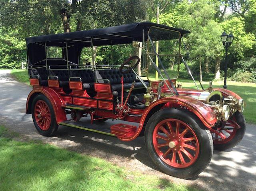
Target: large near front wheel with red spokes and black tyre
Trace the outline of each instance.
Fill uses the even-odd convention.
[[[166,108],[150,117],[145,144],[154,163],[166,174],[188,179],[210,163],[213,142],[202,122],[187,110]]]

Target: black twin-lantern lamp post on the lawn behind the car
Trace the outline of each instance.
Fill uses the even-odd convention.
[[[230,33],[229,35],[226,34],[226,32],[224,31],[222,33],[222,35],[220,35],[221,41],[223,46],[225,47],[225,51],[226,51],[226,55],[225,55],[225,69],[224,69],[224,89],[227,89],[227,69],[228,69],[228,47],[230,47],[230,45],[232,44],[233,40],[234,40],[234,36],[232,33]]]

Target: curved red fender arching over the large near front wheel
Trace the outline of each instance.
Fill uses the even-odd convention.
[[[158,110],[165,105],[166,103],[173,103],[174,105],[181,105],[182,107],[186,107],[188,110],[190,110],[192,113],[194,113],[201,121],[202,123],[208,127],[211,128],[215,125],[217,122],[217,117],[214,111],[210,107],[208,107],[206,104],[204,104],[201,101],[198,101],[197,99],[194,99],[193,97],[188,96],[173,96],[173,97],[166,97],[163,99],[159,99],[158,101],[155,101],[150,106],[148,106],[143,113],[141,119],[140,119],[140,125],[137,129],[136,133],[129,138],[120,138],[123,141],[131,141],[135,139],[141,132],[142,127],[144,125],[145,119],[154,108],[158,108]],[[158,107],[160,106],[160,107]],[[152,113],[151,113],[152,114]]]

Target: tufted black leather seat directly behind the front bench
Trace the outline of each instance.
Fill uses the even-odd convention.
[[[84,90],[94,90],[94,72],[92,70],[70,70],[70,77],[78,77],[82,79]],[[72,81],[80,81],[80,79],[71,78]]]

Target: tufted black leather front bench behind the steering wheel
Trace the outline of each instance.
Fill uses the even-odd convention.
[[[122,74],[118,69],[98,70],[98,72],[99,72],[101,78],[108,79],[110,81],[112,91],[118,91],[118,92],[121,91],[121,89],[122,89],[122,84],[121,84],[122,75],[124,76],[124,90],[129,90],[134,81],[137,81],[134,84],[134,88],[144,88],[142,83],[138,82],[138,80],[136,80],[136,75],[132,71],[128,72],[127,74]],[[99,77],[97,77],[97,78],[99,78]],[[149,85],[148,82],[145,82],[145,84],[147,86]]]

